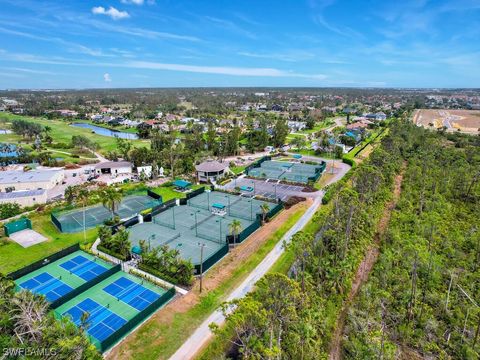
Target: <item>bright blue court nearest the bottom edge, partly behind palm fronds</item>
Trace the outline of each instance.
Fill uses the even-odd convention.
[[[105,306],[98,304],[90,298],[83,300],[77,305],[65,311],[63,315],[70,315],[73,322],[79,326],[82,322],[82,315],[88,313],[87,328],[88,334],[99,341],[108,338],[115,331],[120,329],[127,320],[114,314]]]

